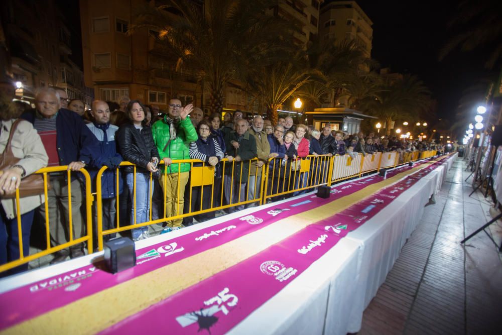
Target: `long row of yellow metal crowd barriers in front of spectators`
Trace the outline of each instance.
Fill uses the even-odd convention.
[[[425,151],[425,152],[413,152],[413,153],[404,153],[403,162],[407,163],[410,161],[415,161],[417,159],[424,159],[433,157],[436,155],[436,151]],[[133,222],[126,222],[126,225],[121,225],[120,220],[120,195],[119,195],[119,178],[121,177],[120,168],[115,169],[115,184],[116,184],[116,215],[113,229],[103,230],[103,207],[102,207],[102,184],[101,177],[103,173],[107,170],[106,166],[103,166],[97,173],[96,176],[96,192],[91,192],[91,178],[89,173],[85,169],[81,169],[80,172],[83,174],[84,181],[84,189],[85,189],[85,219],[86,219],[86,234],[80,238],[73,239],[73,224],[72,224],[72,215],[71,215],[71,185],[68,187],[68,199],[69,199],[69,211],[70,217],[68,218],[68,229],[69,229],[69,242],[51,246],[51,238],[50,238],[50,222],[49,222],[49,208],[48,208],[48,190],[47,190],[47,174],[51,172],[62,172],[66,171],[67,180],[71,180],[71,171],[67,170],[67,166],[58,166],[58,167],[50,167],[43,168],[38,170],[35,173],[43,174],[44,176],[44,184],[45,184],[45,192],[44,199],[45,203],[45,229],[46,229],[46,244],[47,248],[41,252],[38,252],[33,255],[25,256],[23,255],[23,240],[22,240],[22,232],[21,232],[21,215],[18,214],[18,229],[19,229],[19,248],[20,248],[20,259],[9,262],[7,264],[0,266],[0,272],[12,269],[16,266],[25,264],[27,262],[33,261],[40,257],[49,255],[51,253],[57,252],[59,250],[71,247],[73,245],[87,243],[88,253],[91,254],[93,252],[93,213],[92,213],[92,201],[93,195],[96,195],[96,240],[97,240],[97,249],[103,249],[103,237],[111,234],[122,233],[129,230],[137,229],[140,227],[150,226],[154,224],[160,224],[165,221],[179,219],[183,217],[194,216],[198,214],[211,213],[216,210],[221,209],[230,209],[236,206],[242,206],[245,204],[251,203],[259,203],[263,204],[267,200],[272,199],[276,200],[282,198],[284,196],[293,195],[295,192],[302,192],[306,190],[311,190],[314,187],[318,187],[320,185],[331,185],[332,183],[336,183],[341,180],[359,177],[363,173],[370,173],[373,171],[379,171],[382,168],[390,168],[396,167],[398,165],[399,153],[397,152],[384,152],[384,153],[374,153],[374,154],[366,154],[363,156],[362,154],[357,154],[355,157],[351,157],[346,154],[343,156],[335,155],[309,155],[305,158],[301,158],[298,160],[290,160],[283,161],[283,159],[279,158],[271,158],[268,163],[264,164],[262,168],[258,168],[256,163],[258,163],[258,159],[253,159],[251,161],[244,161],[238,168],[236,168],[235,160],[232,162],[228,162],[227,159],[221,160],[219,165],[221,166],[221,184],[219,182],[215,182],[219,177],[215,174],[215,168],[210,166],[209,164],[203,163],[199,160],[175,160],[171,164],[171,166],[178,165],[178,171],[181,164],[190,164],[190,177],[188,181],[187,190],[188,194],[188,203],[185,203],[185,206],[188,206],[188,210],[182,210],[180,208],[180,196],[178,196],[177,203],[177,211],[175,215],[167,216],[166,211],[166,198],[167,193],[163,192],[163,217],[158,219],[152,219],[152,187],[150,187],[150,193],[148,194],[150,199],[150,209],[148,213],[148,219],[145,222],[136,222],[136,182],[134,182],[135,186],[132,194],[132,206],[134,208],[134,220]],[[284,165],[283,165],[284,162]],[[164,164],[163,161],[160,164]],[[246,165],[248,167],[247,175],[242,175],[243,167]],[[122,162],[120,164],[123,166],[134,166],[134,172],[136,172],[136,166],[129,162]],[[161,167],[161,165],[159,165]],[[240,171],[239,171],[240,169]],[[226,173],[225,173],[226,172]],[[178,174],[178,180],[180,180],[180,173]],[[233,195],[236,194],[237,190],[235,189],[235,181],[234,175],[239,175],[239,182],[237,185],[242,185],[244,182],[246,184],[244,190],[244,197],[242,198],[240,188],[239,194],[237,196],[237,201],[233,200]],[[165,170],[163,172],[164,180],[167,178],[168,171]],[[255,175],[254,178],[253,174]],[[226,177],[225,177],[226,176]],[[261,176],[261,178],[257,178],[256,176]],[[136,173],[135,173],[136,178]],[[252,180],[254,184],[250,184],[248,181]],[[260,180],[259,180],[260,179]],[[135,179],[136,181],[136,179]],[[149,174],[149,182],[154,183],[154,176],[152,173]],[[228,187],[228,183],[230,183]],[[254,193],[252,196],[248,197],[249,187],[254,186]],[[225,186],[227,186],[227,190],[229,189],[230,195],[229,203],[225,203]],[[124,190],[126,189],[126,182],[124,181]],[[192,201],[195,201],[195,196],[193,197],[194,190],[198,188],[197,192],[200,192],[200,198],[197,197],[197,201],[200,203],[195,205],[196,210],[192,210]],[[164,185],[164,189],[166,189],[166,185]],[[180,194],[180,183],[178,182],[176,192]],[[210,201],[204,202],[203,195],[204,192],[210,192]],[[126,193],[127,194],[127,193]],[[122,195],[124,196],[124,195]],[[127,196],[127,195],[126,195]],[[83,201],[83,202],[84,202]],[[17,212],[20,212],[20,200],[19,200],[19,190],[16,191],[16,204],[17,204]],[[126,215],[129,216],[129,208],[126,210]],[[127,220],[126,220],[127,221]],[[25,241],[26,243],[26,241]],[[29,242],[28,242],[29,243]]]

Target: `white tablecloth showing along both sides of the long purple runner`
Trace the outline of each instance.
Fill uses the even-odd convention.
[[[457,154],[451,155],[442,165],[401,193],[363,226],[348,233],[306,271],[255,309],[228,333],[345,334],[357,332],[361,326],[364,309],[385,281],[402,246],[417,226],[425,204],[440,189],[456,156]],[[335,187],[340,188],[352,181],[354,180],[338,183]],[[311,195],[300,195],[296,198],[301,199]],[[291,201],[291,199],[267,204],[261,206],[260,209],[278,208],[286,201]],[[226,215],[224,219],[231,220],[256,211],[257,208],[247,208],[238,213]],[[216,218],[204,224],[139,241],[136,248],[148,250],[146,248],[152,245],[220,223],[221,218]],[[91,265],[93,260],[99,257],[102,257],[102,253],[0,281],[0,307],[7,308],[2,305],[2,294],[44,278]],[[260,287],[250,289],[260,290]],[[85,318],[85,313],[81,316]],[[141,322],[148,322],[148,320]],[[9,332],[9,328],[4,330]],[[44,331],[41,330],[41,332]],[[82,332],[85,333],[85,331]]]

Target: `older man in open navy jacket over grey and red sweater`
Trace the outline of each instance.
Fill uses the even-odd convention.
[[[38,131],[49,156],[49,167],[68,165],[68,170],[79,171],[90,163],[93,153],[98,152],[98,143],[78,114],[60,108],[59,98],[59,93],[53,88],[44,87],[37,90],[36,108],[26,111],[21,118],[31,122]],[[50,178],[52,189],[48,191],[47,199],[49,230],[51,244],[58,246],[70,241],[68,220],[70,199],[72,238],[76,240],[85,235],[85,225],[80,213],[82,190],[78,178],[81,178],[81,174],[72,173],[71,197],[68,197],[69,182],[66,171],[51,173]],[[61,208],[60,214],[58,208]],[[45,206],[39,207],[39,213],[45,218]],[[83,247],[80,243],[58,251],[51,264],[62,262],[68,256],[71,258],[83,256]]]

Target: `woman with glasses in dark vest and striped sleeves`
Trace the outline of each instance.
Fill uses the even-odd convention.
[[[191,180],[195,180],[194,177],[198,173],[207,173],[205,168],[200,167],[209,167],[210,171],[214,174],[214,179],[212,185],[192,187],[190,212],[211,208],[211,198],[213,199],[214,206],[215,198],[219,198],[221,195],[221,167],[219,161],[223,159],[223,151],[218,141],[211,136],[211,125],[207,121],[202,120],[199,122],[197,133],[199,134],[197,141],[190,143],[190,158],[201,160],[204,163],[193,164]],[[201,179],[203,180],[204,178]],[[193,217],[199,222],[206,221],[214,217],[214,211],[197,214]],[[191,225],[192,218],[188,217],[184,222]]]

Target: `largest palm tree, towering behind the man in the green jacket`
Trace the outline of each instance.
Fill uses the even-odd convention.
[[[203,9],[185,0],[167,3],[138,8],[131,33],[158,31],[159,42],[177,57],[178,69],[198,70],[209,86],[211,111],[221,111],[226,83],[292,47],[291,26],[267,13],[276,0],[206,0]],[[174,19],[167,11],[173,9],[180,14]]]

